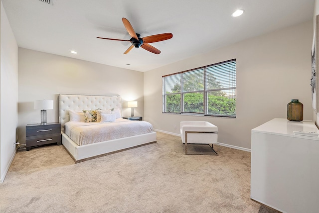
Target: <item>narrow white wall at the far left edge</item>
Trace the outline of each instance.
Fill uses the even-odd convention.
[[[18,47],[0,2],[0,183],[15,155]]]

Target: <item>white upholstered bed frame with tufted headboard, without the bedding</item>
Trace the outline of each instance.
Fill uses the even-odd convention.
[[[70,120],[69,109],[120,108],[122,114],[121,102],[120,96],[59,94],[59,120],[61,123],[62,144],[75,163],[157,142],[156,132],[152,132],[79,146],[64,133],[64,124]]]

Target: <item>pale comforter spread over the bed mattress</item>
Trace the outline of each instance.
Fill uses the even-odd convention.
[[[69,121],[65,134],[79,146],[153,132],[147,121],[116,119],[115,122]]]

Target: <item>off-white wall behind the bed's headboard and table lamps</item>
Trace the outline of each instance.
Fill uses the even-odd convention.
[[[35,100],[53,100],[47,122],[58,121],[58,94],[120,95],[123,116],[131,115],[127,101],[137,100],[135,115],[143,116],[143,73],[58,56],[29,49],[18,49],[18,141],[25,143],[25,125],[40,123]]]

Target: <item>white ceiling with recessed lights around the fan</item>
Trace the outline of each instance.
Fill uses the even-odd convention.
[[[315,6],[315,0],[1,1],[19,47],[141,72],[311,20]],[[232,17],[239,8],[244,14]],[[122,17],[141,37],[173,38],[152,43],[159,55],[142,48],[124,55],[130,42],[96,38],[130,39]]]

